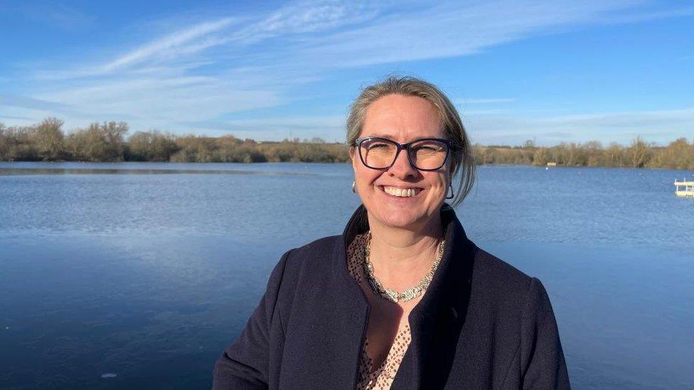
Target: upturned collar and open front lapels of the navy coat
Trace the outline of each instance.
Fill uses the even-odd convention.
[[[445,374],[449,372],[454,357],[457,336],[464,323],[476,246],[467,238],[454,210],[446,203],[441,209],[441,220],[446,232],[444,253],[427,292],[408,317],[412,342],[393,380],[392,389],[442,386],[438,381],[446,379]],[[360,205],[344,229],[339,253],[335,256],[341,264],[334,268],[340,270],[341,282],[349,286],[349,295],[353,296],[351,308],[356,320],[354,326],[362,327],[361,340],[354,340],[358,342],[360,351],[356,364],[361,357],[361,345],[368,323],[368,303],[361,288],[349,275],[346,256],[352,239],[367,230],[366,209],[364,205]],[[358,323],[359,320],[363,322]],[[435,356],[436,359],[427,359],[430,356]]]

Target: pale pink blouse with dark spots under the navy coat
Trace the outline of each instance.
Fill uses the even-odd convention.
[[[357,281],[362,283],[362,273],[364,264],[364,247],[366,244],[366,234],[357,235],[347,249],[347,269],[349,274]],[[373,360],[366,353],[368,337],[364,340],[361,349],[361,359],[359,362],[359,377],[357,380],[357,390],[363,389],[390,389],[393,379],[400,367],[402,357],[410,347],[412,337],[410,335],[410,325],[406,324],[397,330],[393,345],[390,347],[388,357],[378,367],[373,367]]]

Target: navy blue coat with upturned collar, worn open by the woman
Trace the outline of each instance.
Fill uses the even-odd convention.
[[[409,316],[412,342],[391,389],[568,389],[550,299],[479,249],[455,212],[442,261]],[[341,236],[288,251],[237,340],[215,364],[215,389],[354,389],[369,305],[346,248],[368,229],[360,206]]]

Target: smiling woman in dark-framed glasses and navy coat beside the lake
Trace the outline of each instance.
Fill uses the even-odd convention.
[[[444,203],[474,183],[449,99],[388,77],[363,90],[347,128],[363,205],[341,236],[282,256],[214,387],[568,388],[543,285],[476,247]]]

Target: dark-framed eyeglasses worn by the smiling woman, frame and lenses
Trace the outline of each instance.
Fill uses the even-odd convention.
[[[408,143],[397,143],[381,137],[363,137],[354,141],[361,162],[371,169],[386,169],[393,166],[397,155],[407,151],[410,166],[419,170],[437,170],[446,163],[451,141],[440,138],[415,139]]]

